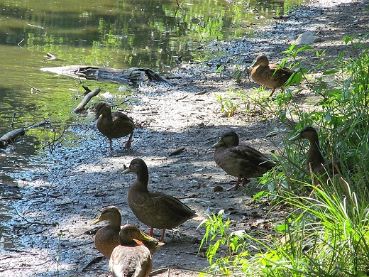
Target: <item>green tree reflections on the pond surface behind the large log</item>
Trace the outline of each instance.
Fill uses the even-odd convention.
[[[178,56],[183,56],[185,62],[191,60],[196,55],[191,51],[206,41],[245,36],[250,31],[246,26],[258,28],[262,21],[259,15],[270,18],[284,13],[285,7],[293,4],[284,1],[260,4],[255,0],[241,4],[226,0],[63,2],[40,6],[31,0],[25,6],[5,9],[5,16],[15,21],[27,18],[29,23],[26,28],[21,25],[11,28],[6,41],[18,43],[26,38],[26,44],[34,47],[92,48],[91,53],[84,54],[90,55],[84,60],[109,61],[121,68],[163,70],[174,65]]]

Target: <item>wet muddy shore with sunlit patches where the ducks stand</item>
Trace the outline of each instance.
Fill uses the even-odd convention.
[[[106,259],[92,262],[101,256],[94,248],[93,233],[104,224],[95,227],[90,223],[103,207],[116,205],[123,223],[137,224],[148,232],[126,200],[136,175],[121,174],[123,166],[137,157],[148,165],[149,190],[173,195],[199,215],[172,232],[167,231],[165,245],[153,255],[153,269],[167,269],[156,276],[197,276],[197,271],[209,266],[205,249],[199,251],[204,228],[197,229],[206,212],[224,209],[232,229],[268,232],[265,222],[276,224],[285,212],[270,212],[268,203],[255,204],[251,200],[259,189],[256,180],[247,188],[214,192],[216,185],[226,189],[234,185],[236,178],[226,175],[214,163],[211,145],[232,129],[241,143],[263,153],[278,153],[280,140],[290,130],[268,114],[260,116],[252,103],[251,112],[246,113],[240,106],[234,116],[226,117],[216,94],[226,97],[230,88],[247,94],[257,88],[247,77],[241,83],[231,77],[236,65],[250,65],[260,53],[278,62],[283,58],[280,53],[304,31],[321,38],[312,45],[314,48],[326,49],[327,58],[336,57],[347,49],[343,36],[368,32],[365,9],[368,0],[316,1],[275,20],[257,32],[258,38],[209,43],[206,51],[224,56],[178,67],[172,75],[180,79],[173,79],[172,86],[148,82],[137,89],[128,115],[141,128],[136,129],[130,150],[124,148],[123,138],[114,140],[114,151],[109,152],[109,143],[95,124],[71,127],[69,131],[76,137],[73,146],[56,148],[44,158],[42,167],[23,173],[18,181],[24,196],[14,202],[18,215],[8,224],[14,226],[23,246],[1,253],[0,276],[107,276]],[[302,62],[308,66],[310,60]],[[220,64],[224,70],[214,73]],[[306,105],[312,96],[308,91],[300,93]],[[275,136],[267,136],[272,131]],[[184,151],[170,156],[181,147]],[[155,236],[160,236],[160,230],[155,230]]]

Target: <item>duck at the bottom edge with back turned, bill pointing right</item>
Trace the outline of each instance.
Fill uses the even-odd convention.
[[[109,271],[114,277],[145,277],[153,267],[150,251],[137,241],[150,240],[138,227],[126,224],[119,232],[120,245],[111,253]]]

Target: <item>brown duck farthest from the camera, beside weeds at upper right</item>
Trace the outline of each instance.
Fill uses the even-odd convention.
[[[283,85],[290,79],[294,73],[288,67],[279,67],[279,65],[270,64],[266,55],[258,55],[255,62],[250,65],[251,78],[259,85],[272,89],[270,96],[274,93],[277,87],[281,87],[283,91]]]

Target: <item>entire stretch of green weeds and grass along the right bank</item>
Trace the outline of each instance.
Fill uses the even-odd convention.
[[[316,126],[324,157],[339,167],[328,183],[312,185],[304,172],[307,141],[299,145],[282,141],[275,157],[280,165],[260,178],[268,190],[255,198],[272,197],[275,208],[285,205],[292,212],[274,227],[275,234],[268,241],[255,233],[238,232],[242,239],[236,241],[236,248],[231,244],[229,219],[222,219],[224,214],[204,220],[201,226],[206,226],[206,232],[201,246],[210,244],[206,256],[211,258],[211,273],[369,276],[369,56],[363,43],[367,37],[344,38],[356,58],[346,58],[342,53],[326,60],[324,51],[316,52],[315,67],[299,70],[297,78],[305,80],[309,92],[318,97],[314,109],[304,110],[294,97],[300,90],[294,87],[287,87],[275,99],[248,98],[286,126],[296,130]],[[298,60],[305,51],[312,53],[312,48],[295,49],[293,45],[285,53],[302,68]],[[312,78],[312,72],[317,77]],[[250,247],[257,253],[250,254]]]

